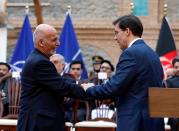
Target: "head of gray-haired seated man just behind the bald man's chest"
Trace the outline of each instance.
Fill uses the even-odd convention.
[[[50,61],[55,65],[57,72],[60,75],[63,75],[63,71],[65,68],[65,59],[61,54],[54,54],[50,56]]]

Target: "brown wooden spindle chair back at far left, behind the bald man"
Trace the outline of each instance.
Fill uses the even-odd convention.
[[[3,119],[17,119],[19,114],[21,84],[19,79],[8,78],[9,114]]]

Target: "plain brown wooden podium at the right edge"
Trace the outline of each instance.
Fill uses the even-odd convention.
[[[179,118],[179,88],[149,88],[149,113],[151,117]]]

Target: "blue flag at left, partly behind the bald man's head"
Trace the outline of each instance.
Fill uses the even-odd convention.
[[[34,49],[33,34],[28,15],[25,16],[24,23],[12,54],[10,64],[13,71],[20,72],[25,60]]]

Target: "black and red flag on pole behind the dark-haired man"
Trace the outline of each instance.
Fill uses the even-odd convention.
[[[162,20],[156,52],[160,57],[165,74],[164,79],[166,79],[166,70],[173,67],[172,60],[177,55],[177,51],[170,26],[165,16]]]

